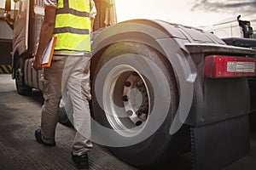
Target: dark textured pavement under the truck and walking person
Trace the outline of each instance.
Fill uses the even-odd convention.
[[[44,147],[34,139],[34,131],[40,124],[43,99],[38,91],[29,97],[20,96],[15,91],[15,81],[9,75],[0,75],[0,169],[76,169],[71,161],[73,128],[57,125],[56,147]],[[256,135],[252,133],[250,153],[224,170],[256,169]],[[168,168],[155,169],[189,170],[189,154],[170,161]],[[91,170],[136,170],[119,161],[106,148],[95,144],[90,152]]]

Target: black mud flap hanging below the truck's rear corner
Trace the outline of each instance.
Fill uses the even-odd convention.
[[[196,170],[221,169],[246,156],[250,150],[248,115],[191,127],[190,135]]]

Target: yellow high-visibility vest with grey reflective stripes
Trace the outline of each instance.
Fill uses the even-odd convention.
[[[90,52],[90,0],[58,0],[55,51]]]

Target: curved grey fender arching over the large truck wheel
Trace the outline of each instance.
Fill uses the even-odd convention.
[[[176,133],[189,115],[196,78],[195,67],[189,64],[192,59],[179,38],[187,39],[174,25],[165,21],[127,20],[104,29],[92,42],[92,74],[104,49],[115,42],[141,42],[166,56],[176,74],[179,89],[179,105],[170,134]]]

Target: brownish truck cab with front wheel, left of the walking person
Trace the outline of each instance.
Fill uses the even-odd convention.
[[[36,52],[41,25],[44,20],[44,1],[15,0],[6,1],[15,4],[15,21],[13,23],[12,78],[15,79],[17,92],[29,95],[32,88],[42,89],[38,81],[42,71],[34,71],[28,61]],[[7,10],[8,14],[8,10]],[[26,71],[25,71],[26,70]],[[27,74],[31,74],[29,78]]]

